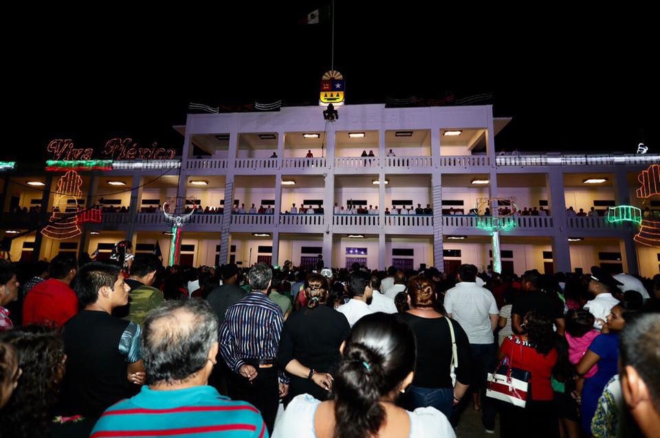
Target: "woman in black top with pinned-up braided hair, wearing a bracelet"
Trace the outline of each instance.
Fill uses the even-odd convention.
[[[301,292],[302,293],[302,292]],[[351,327],[344,314],[326,306],[328,282],[319,274],[307,278],[307,306],[293,312],[284,324],[278,363],[291,375],[289,398],[309,393],[327,400],[331,371],[341,359],[339,347]]]

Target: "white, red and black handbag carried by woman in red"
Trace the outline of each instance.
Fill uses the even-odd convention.
[[[522,353],[522,340],[520,340],[520,351]],[[486,396],[524,408],[530,379],[529,371],[515,368],[511,359],[505,357],[495,371],[488,373]]]

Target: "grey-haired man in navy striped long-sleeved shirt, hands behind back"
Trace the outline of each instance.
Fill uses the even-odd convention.
[[[279,397],[289,391],[289,379],[284,372],[278,373],[275,360],[284,319],[280,307],[266,296],[272,277],[267,264],[250,269],[252,292],[227,310],[220,327],[220,352],[234,371],[230,396],[259,408],[270,433]]]

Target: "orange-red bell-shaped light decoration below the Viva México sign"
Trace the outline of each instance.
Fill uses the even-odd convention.
[[[76,213],[78,213],[78,198],[83,196],[83,191],[80,189],[82,185],[83,178],[80,178],[75,170],[69,170],[57,181],[53,214],[48,220],[49,224],[41,230],[41,234],[54,240],[71,239],[80,235]],[[69,204],[72,207],[69,207]]]

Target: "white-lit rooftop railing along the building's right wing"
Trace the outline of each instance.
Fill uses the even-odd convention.
[[[654,164],[660,163],[660,154],[624,155],[499,155],[496,165],[603,165],[603,164]]]

